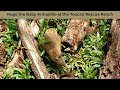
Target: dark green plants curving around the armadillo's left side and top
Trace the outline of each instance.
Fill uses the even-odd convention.
[[[49,73],[57,73],[60,74],[64,72],[64,70],[60,67],[57,67],[56,64],[54,64],[48,57],[45,49],[43,48],[43,44],[47,41],[44,40],[44,34],[48,28],[56,28],[58,30],[59,35],[63,35],[64,31],[67,27],[68,20],[63,19],[40,19],[39,20],[39,27],[40,27],[40,34],[36,36],[35,38],[38,40],[39,43],[39,50],[40,55],[42,56],[45,65],[47,67],[47,70]]]

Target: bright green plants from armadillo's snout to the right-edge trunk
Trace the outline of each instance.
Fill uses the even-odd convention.
[[[91,20],[96,24],[96,20]],[[83,45],[78,49],[78,56],[75,57],[69,52],[64,52],[64,57],[71,70],[75,71],[77,79],[97,79],[98,71],[104,58],[104,48],[108,42],[110,24],[108,20],[100,20],[98,32],[89,34],[83,40]],[[65,46],[64,46],[65,48]]]

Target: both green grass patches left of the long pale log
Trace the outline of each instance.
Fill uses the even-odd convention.
[[[16,19],[4,19],[3,22],[7,25],[6,32],[0,32],[2,34],[1,40],[4,43],[6,51],[6,60],[11,61],[14,50],[21,47],[21,40],[17,31]],[[13,74],[10,76],[8,73],[4,73],[4,79],[33,79],[34,75],[31,75],[31,67],[28,59],[23,61],[23,68],[13,68]]]

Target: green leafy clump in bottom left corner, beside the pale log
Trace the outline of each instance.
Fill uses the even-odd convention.
[[[29,59],[25,59],[22,64],[23,68],[13,67],[13,73],[10,75],[5,72],[3,75],[4,79],[35,79],[33,75],[31,75],[31,67]]]

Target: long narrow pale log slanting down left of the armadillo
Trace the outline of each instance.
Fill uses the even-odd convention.
[[[40,57],[38,46],[35,44],[34,36],[31,28],[28,26],[26,19],[18,19],[18,32],[22,41],[22,45],[26,48],[25,52],[30,59],[31,68],[37,79],[50,79],[43,59]]]

